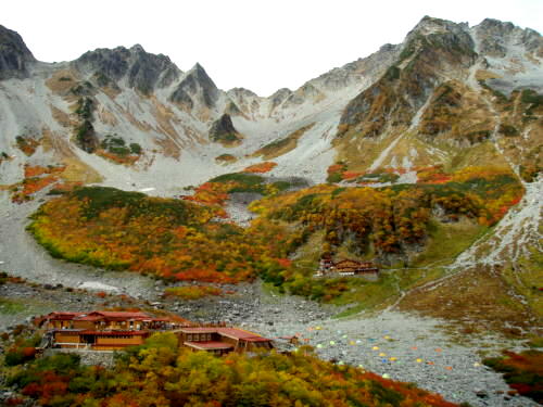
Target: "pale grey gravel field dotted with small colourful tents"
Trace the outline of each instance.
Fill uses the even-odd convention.
[[[278,303],[280,304],[280,302]],[[298,336],[298,346],[311,345],[317,355],[337,364],[349,364],[393,380],[414,382],[437,392],[454,403],[471,406],[536,406],[525,397],[512,398],[501,374],[481,364],[481,353],[498,354],[515,347],[498,338],[463,338],[462,343],[443,329],[443,321],[409,314],[383,311],[343,319],[325,318],[295,322],[289,314],[303,320],[304,309],[276,306],[268,321],[252,321],[251,328],[265,336]],[[274,323],[269,323],[274,322]]]

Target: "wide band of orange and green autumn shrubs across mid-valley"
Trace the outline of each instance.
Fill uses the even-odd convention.
[[[111,188],[75,188],[43,204],[29,226],[51,255],[169,280],[235,283],[257,276],[281,290],[329,301],[349,291],[342,280],[316,282],[291,255],[315,233],[334,254],[345,241],[378,262],[402,258],[427,244],[432,221],[471,219],[494,225],[522,195],[521,185],[497,168],[468,167],[435,182],[381,188],[320,185],[293,192],[288,182],[255,174],[227,174],[185,200],[150,198]],[[377,173],[379,179],[388,173]],[[374,175],[365,175],[374,179]],[[250,208],[248,228],[226,222],[229,194],[265,198]],[[193,202],[191,202],[193,201]]]

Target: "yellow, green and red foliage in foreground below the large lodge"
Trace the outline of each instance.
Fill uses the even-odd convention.
[[[111,369],[58,354],[33,363],[10,382],[46,407],[456,406],[413,384],[323,361],[310,347],[217,357],[179,347],[173,333],[128,348]]]

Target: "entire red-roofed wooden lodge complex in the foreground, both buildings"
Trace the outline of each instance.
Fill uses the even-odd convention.
[[[186,320],[155,318],[141,311],[51,313],[36,322],[47,329],[46,339],[51,347],[117,351],[141,345],[148,336],[161,331],[174,332],[180,346],[217,355],[274,347],[269,339],[224,323],[193,326]]]

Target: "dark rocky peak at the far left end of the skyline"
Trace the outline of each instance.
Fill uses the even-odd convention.
[[[27,77],[28,65],[33,62],[36,59],[23,38],[0,25],[0,80]]]

